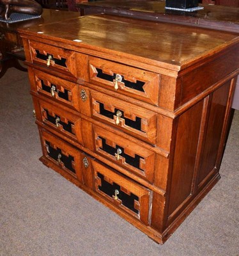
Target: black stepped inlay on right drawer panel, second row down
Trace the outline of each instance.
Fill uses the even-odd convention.
[[[140,117],[136,116],[135,121],[131,120],[129,118],[125,118],[124,117],[124,111],[121,111],[120,109],[115,108],[114,112],[111,112],[111,111],[104,108],[103,103],[98,102],[98,101],[96,101],[96,102],[98,104],[100,104],[100,115],[103,115],[103,116],[106,116],[108,118],[114,119],[114,116],[116,116],[116,113],[119,110],[122,113],[121,118],[125,119],[125,125],[127,125],[129,127],[132,127],[132,128],[134,128],[138,131],[144,132],[144,131],[141,130],[141,118]]]

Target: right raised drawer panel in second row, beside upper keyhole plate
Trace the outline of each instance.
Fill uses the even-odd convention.
[[[80,86],[80,94],[82,95],[84,90],[85,95],[89,96],[80,100],[82,114],[111,124],[148,143],[156,144],[157,113],[109,95],[82,88],[83,86]]]

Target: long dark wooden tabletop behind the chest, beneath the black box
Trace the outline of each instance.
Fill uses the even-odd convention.
[[[106,0],[76,4],[81,15],[107,13],[136,19],[164,21],[204,28],[239,31],[239,8],[199,4],[203,10],[178,12],[165,9],[165,1]]]

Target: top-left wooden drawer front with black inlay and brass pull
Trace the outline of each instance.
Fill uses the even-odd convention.
[[[29,46],[33,63],[88,81],[87,55],[35,41],[30,41]]]

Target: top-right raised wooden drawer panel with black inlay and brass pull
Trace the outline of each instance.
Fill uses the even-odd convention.
[[[159,74],[90,56],[89,81],[158,106]]]

